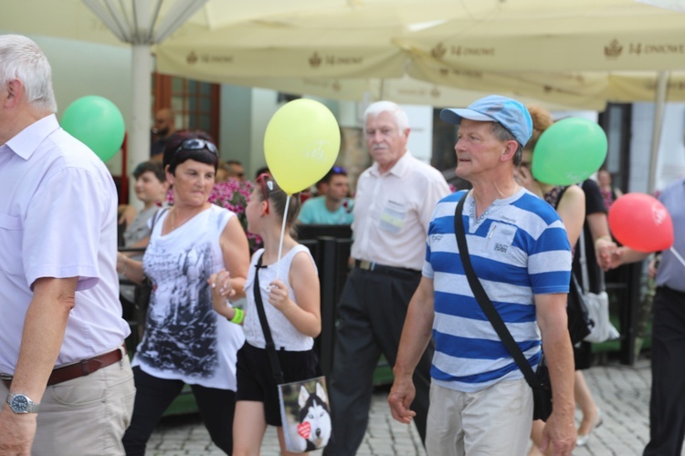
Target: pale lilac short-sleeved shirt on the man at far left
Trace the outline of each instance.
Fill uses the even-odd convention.
[[[117,192],[100,158],[47,116],[0,146],[0,195],[0,372],[15,371],[41,277],[79,277],[58,366],[121,346]]]

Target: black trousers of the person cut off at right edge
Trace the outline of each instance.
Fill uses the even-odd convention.
[[[685,436],[685,293],[654,296],[649,443],[645,455],[680,456]]]

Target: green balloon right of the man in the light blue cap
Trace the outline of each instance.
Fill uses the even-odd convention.
[[[553,185],[585,181],[606,159],[606,133],[595,122],[568,118],[544,130],[532,153],[532,176]]]

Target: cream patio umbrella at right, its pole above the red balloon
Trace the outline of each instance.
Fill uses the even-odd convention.
[[[683,2],[505,1],[481,15],[446,20],[395,43],[414,56],[410,72],[538,72],[541,77],[581,72],[584,77],[606,78],[606,99],[621,101],[643,98],[645,86],[654,87],[657,115],[648,182],[652,191],[669,72],[685,69],[685,14],[659,6],[682,10]],[[671,92],[682,96],[681,88]]]

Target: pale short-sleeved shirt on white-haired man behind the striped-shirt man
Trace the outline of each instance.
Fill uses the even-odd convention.
[[[374,162],[357,181],[353,258],[420,271],[430,216],[448,194],[440,171],[408,151],[384,174]]]

